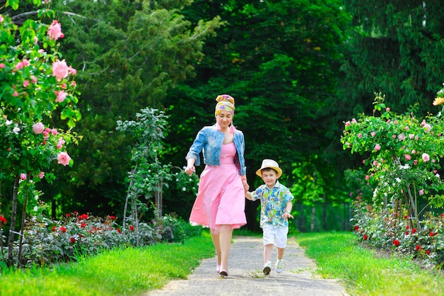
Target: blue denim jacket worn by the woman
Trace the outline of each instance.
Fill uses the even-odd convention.
[[[207,126],[199,130],[196,139],[194,140],[192,147],[189,148],[189,152],[185,159],[190,157],[196,159],[195,166],[200,166],[199,153],[202,151],[204,154],[204,164],[210,166],[221,165],[221,149],[223,144],[223,138],[225,135],[220,130],[216,129],[216,125]],[[234,130],[233,142],[235,144],[238,159],[235,159],[235,164],[238,166],[239,175],[243,176],[246,173],[245,159],[243,157],[245,151],[245,140],[243,138],[243,132],[240,130]]]

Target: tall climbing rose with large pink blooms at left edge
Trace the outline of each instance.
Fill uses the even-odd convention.
[[[42,1],[26,2],[43,5]],[[16,10],[18,1],[6,1],[3,8],[9,6]],[[35,14],[40,20],[55,16],[46,8]],[[35,190],[35,183],[42,178],[49,183],[55,179],[48,171],[54,162],[73,164],[67,147],[77,143],[78,137],[71,129],[81,114],[76,108],[77,71],[57,51],[57,40],[63,37],[56,20],[48,25],[26,19],[18,26],[0,11],[0,182],[15,180],[18,186],[13,209],[17,197],[28,211],[38,211],[42,193]],[[55,114],[70,130],[51,125]],[[11,210],[10,254],[15,215]]]

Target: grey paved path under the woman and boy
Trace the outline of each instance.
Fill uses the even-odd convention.
[[[216,257],[201,261],[187,280],[172,280],[162,288],[142,296],[161,295],[348,295],[337,280],[321,279],[314,273],[316,264],[304,254],[294,238],[289,239],[284,255],[284,271],[262,273],[262,238],[233,237],[228,278],[216,273]],[[276,258],[276,249],[272,258]],[[274,261],[272,262],[274,264]]]

